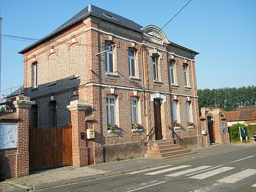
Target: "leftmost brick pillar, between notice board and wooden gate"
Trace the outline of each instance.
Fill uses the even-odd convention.
[[[25,96],[18,96],[13,101],[12,108],[16,109],[19,118],[15,177],[29,175],[29,109],[32,104],[30,98]]]

